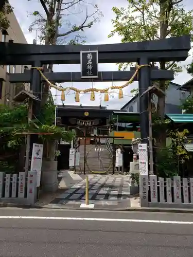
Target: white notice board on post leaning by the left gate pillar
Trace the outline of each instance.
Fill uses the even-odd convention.
[[[42,157],[43,157],[43,144],[33,143],[30,170],[37,171],[37,187],[40,187]]]

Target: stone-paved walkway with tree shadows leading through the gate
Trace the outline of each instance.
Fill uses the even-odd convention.
[[[85,201],[85,175],[63,171],[59,187],[61,194],[51,204],[80,205]],[[89,174],[89,200],[94,205],[130,207],[129,176]],[[123,207],[124,207],[123,206]]]

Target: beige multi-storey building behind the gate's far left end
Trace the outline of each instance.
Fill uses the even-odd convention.
[[[0,32],[0,41],[1,42],[10,42],[10,43],[23,43],[27,44],[23,31],[17,22],[17,19],[14,13],[8,15],[8,20],[10,21],[10,27],[7,30]],[[9,83],[9,74],[10,73],[20,73],[24,72],[24,69],[28,68],[24,65],[17,66],[2,66],[0,65],[0,104],[6,104],[11,106],[13,97],[18,94],[21,90],[29,89],[28,84],[12,84]]]

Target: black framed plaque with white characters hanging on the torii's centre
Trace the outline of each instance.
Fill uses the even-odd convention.
[[[98,78],[98,50],[80,52],[81,78]]]

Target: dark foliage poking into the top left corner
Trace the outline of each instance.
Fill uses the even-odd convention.
[[[9,20],[7,19],[7,15],[13,11],[13,7],[9,5],[8,0],[0,1],[0,30],[9,28]]]

